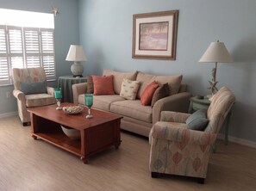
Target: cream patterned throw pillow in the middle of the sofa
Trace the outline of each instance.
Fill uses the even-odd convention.
[[[124,78],[122,80],[122,87],[120,96],[128,100],[134,100],[136,98],[140,83],[138,81],[132,81]]]

